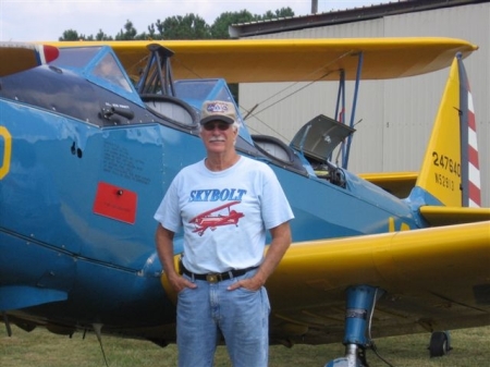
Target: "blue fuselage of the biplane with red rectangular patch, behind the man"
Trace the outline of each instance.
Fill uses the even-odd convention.
[[[151,327],[171,323],[174,306],[160,284],[152,216],[179,170],[205,156],[197,125],[62,61],[0,81],[0,310],[161,338]],[[228,90],[201,83],[215,86],[205,98]],[[204,97],[186,100],[198,108]],[[338,185],[306,160],[290,167],[261,154],[246,127],[237,149],[275,171],[294,242],[420,227],[404,200],[347,171]],[[181,252],[180,235],[175,244]]]

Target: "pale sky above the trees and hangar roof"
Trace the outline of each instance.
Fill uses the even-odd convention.
[[[318,0],[318,13],[384,2],[389,1]],[[311,0],[0,0],[0,41],[56,41],[68,29],[85,36],[95,36],[101,29],[114,37],[127,21],[140,34],[169,16],[194,13],[211,25],[224,12],[246,9],[262,15],[287,7],[296,16],[307,15]]]

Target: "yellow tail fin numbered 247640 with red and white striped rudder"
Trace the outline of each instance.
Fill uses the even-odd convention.
[[[428,205],[481,205],[475,112],[461,56],[451,65],[417,179],[415,193],[420,192]]]

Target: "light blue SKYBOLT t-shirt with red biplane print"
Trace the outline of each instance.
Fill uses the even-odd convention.
[[[183,261],[195,273],[260,265],[266,231],[293,218],[274,172],[247,157],[220,172],[204,160],[182,169],[155,213],[172,232],[184,228]]]

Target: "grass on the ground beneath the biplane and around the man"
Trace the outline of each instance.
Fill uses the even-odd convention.
[[[3,330],[5,330],[3,328]],[[2,327],[0,327],[2,331]],[[57,335],[44,329],[25,332],[12,328],[0,337],[0,366],[15,367],[105,367],[100,345],[94,333],[75,333],[73,338]],[[454,330],[451,332],[453,351],[440,358],[429,358],[427,350],[430,335],[415,334],[376,340],[380,355],[396,367],[467,367],[488,365],[488,340],[490,327]],[[175,345],[161,348],[150,342],[102,337],[103,350],[110,367],[174,367]],[[324,366],[327,362],[341,357],[344,347],[332,345],[295,345],[293,348],[271,346],[270,367]],[[370,367],[387,366],[372,351],[367,358]],[[230,367],[226,351],[219,346],[216,367]],[[250,366],[253,367],[253,366]]]

